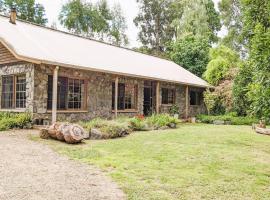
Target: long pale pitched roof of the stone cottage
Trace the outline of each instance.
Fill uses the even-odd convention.
[[[0,16],[0,41],[21,60],[199,87],[209,84],[172,61]]]

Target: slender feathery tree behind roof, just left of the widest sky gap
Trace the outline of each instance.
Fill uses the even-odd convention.
[[[112,8],[112,21],[110,28],[110,42],[117,46],[128,45],[128,37],[126,35],[127,23],[123,16],[120,4],[115,4]]]

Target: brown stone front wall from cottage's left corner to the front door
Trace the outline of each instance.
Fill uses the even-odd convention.
[[[48,75],[53,74],[51,66],[35,66],[35,118],[51,119],[47,110]],[[87,84],[87,108],[81,112],[58,111],[60,121],[90,120],[96,117],[110,119],[114,116],[112,111],[112,82],[115,76],[106,73],[89,72],[60,67],[59,76],[84,79]],[[119,113],[120,116],[134,116],[143,114],[143,81],[119,77],[119,83],[133,83],[138,85],[138,109],[135,112]]]

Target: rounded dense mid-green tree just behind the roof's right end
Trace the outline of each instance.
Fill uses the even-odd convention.
[[[207,39],[187,35],[172,43],[169,55],[175,63],[201,77],[209,62],[209,50]]]

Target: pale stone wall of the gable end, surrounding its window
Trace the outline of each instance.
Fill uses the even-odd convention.
[[[31,63],[14,63],[0,65],[0,95],[2,94],[2,76],[5,75],[26,75],[26,109],[25,111],[33,112],[34,98],[34,64]],[[0,98],[1,106],[1,98]],[[16,109],[14,110],[16,111]],[[20,111],[22,111],[20,109]]]

